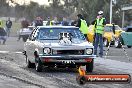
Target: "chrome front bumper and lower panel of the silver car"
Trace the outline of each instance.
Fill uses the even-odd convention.
[[[42,63],[47,64],[86,64],[96,55],[39,55]]]

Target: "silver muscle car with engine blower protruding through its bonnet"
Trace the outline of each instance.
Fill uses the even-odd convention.
[[[43,66],[79,67],[86,65],[92,72],[93,45],[86,41],[78,27],[38,26],[24,44],[28,68],[41,72]]]

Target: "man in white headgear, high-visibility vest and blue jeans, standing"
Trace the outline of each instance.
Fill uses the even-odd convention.
[[[95,25],[94,54],[97,55],[97,48],[99,45],[100,46],[99,56],[103,57],[103,34],[104,25],[106,24],[106,19],[103,17],[103,11],[98,12],[98,17],[92,24]]]

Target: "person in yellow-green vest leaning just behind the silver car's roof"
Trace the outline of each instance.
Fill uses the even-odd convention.
[[[77,17],[78,17],[78,20],[77,20],[76,27],[80,28],[80,31],[84,34],[85,38],[88,40],[88,38],[87,38],[87,34],[88,34],[87,22],[84,20],[84,18],[81,14],[78,14]]]

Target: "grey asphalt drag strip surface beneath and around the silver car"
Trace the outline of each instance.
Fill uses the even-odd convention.
[[[114,65],[113,65],[114,64]],[[132,74],[131,63],[116,60],[97,58],[95,68],[90,74]],[[43,72],[36,72],[35,69],[25,67],[25,59],[22,53],[1,53],[0,54],[1,74],[7,75],[25,84],[40,88],[131,88],[132,84],[86,84],[78,85],[75,69],[54,69],[44,68]],[[89,74],[89,73],[88,73]],[[13,87],[12,87],[13,88]],[[22,87],[24,88],[24,87]]]

